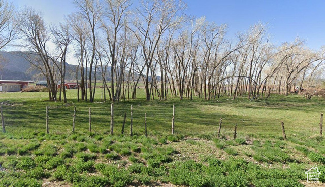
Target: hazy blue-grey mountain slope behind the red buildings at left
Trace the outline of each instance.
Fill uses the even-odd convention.
[[[0,76],[3,80],[45,80],[40,70],[36,70],[24,57],[23,51],[0,51]],[[66,63],[66,80],[75,80],[76,65]]]

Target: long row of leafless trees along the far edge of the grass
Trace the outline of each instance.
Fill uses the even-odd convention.
[[[9,36],[0,42],[0,49],[19,36],[20,46],[32,51],[30,57],[38,56],[28,61],[46,77],[50,100],[61,100],[63,93],[67,102],[64,86],[57,90],[57,83],[65,82],[68,55],[78,60],[78,100],[90,102],[98,82],[108,92],[104,99],[111,101],[135,99],[140,82],[147,100],[168,95],[209,100],[221,94],[233,99],[244,95],[262,99],[271,92],[287,95],[297,86],[299,91],[303,86],[314,88],[321,78],[324,49],[313,51],[300,39],[276,46],[262,23],[228,39],[226,25],[186,15],[182,1],[74,0],[74,4],[77,11],[64,22],[48,25],[41,12],[24,7],[16,14],[12,5],[0,0],[0,10],[10,15],[8,19],[0,15],[8,28],[0,26],[0,35]]]

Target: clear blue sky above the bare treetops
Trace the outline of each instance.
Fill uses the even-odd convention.
[[[10,0],[8,0],[10,1]],[[297,36],[307,46],[318,50],[325,45],[325,1],[316,0],[188,0],[186,13],[217,24],[228,24],[228,38],[238,31],[245,32],[250,25],[268,23],[273,43],[293,41]],[[13,0],[16,6],[31,6],[44,12],[47,22],[62,21],[74,11],[70,0]]]

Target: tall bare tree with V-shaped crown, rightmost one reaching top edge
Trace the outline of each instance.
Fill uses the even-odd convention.
[[[150,100],[152,84],[149,84],[149,76],[153,74],[155,67],[154,58],[161,36],[171,26],[183,21],[177,18],[177,14],[184,8],[182,2],[175,0],[152,0],[141,1],[140,7],[136,9],[137,16],[132,20],[134,33],[142,48],[143,61],[146,68],[145,89],[146,100]],[[152,81],[151,81],[152,82]]]

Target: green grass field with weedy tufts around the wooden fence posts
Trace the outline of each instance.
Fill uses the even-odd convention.
[[[7,131],[0,134],[0,186],[321,186],[325,182],[325,140],[319,136],[322,98],[145,101],[144,90],[138,93],[137,100],[114,103],[113,136],[109,135],[110,102],[77,102],[76,90],[67,92],[68,104],[47,101],[44,92],[0,93]],[[100,91],[95,100],[100,102]],[[173,103],[175,135],[171,135]],[[132,137],[128,135],[131,105]],[[312,167],[322,173],[319,184],[306,182],[304,173]]]

